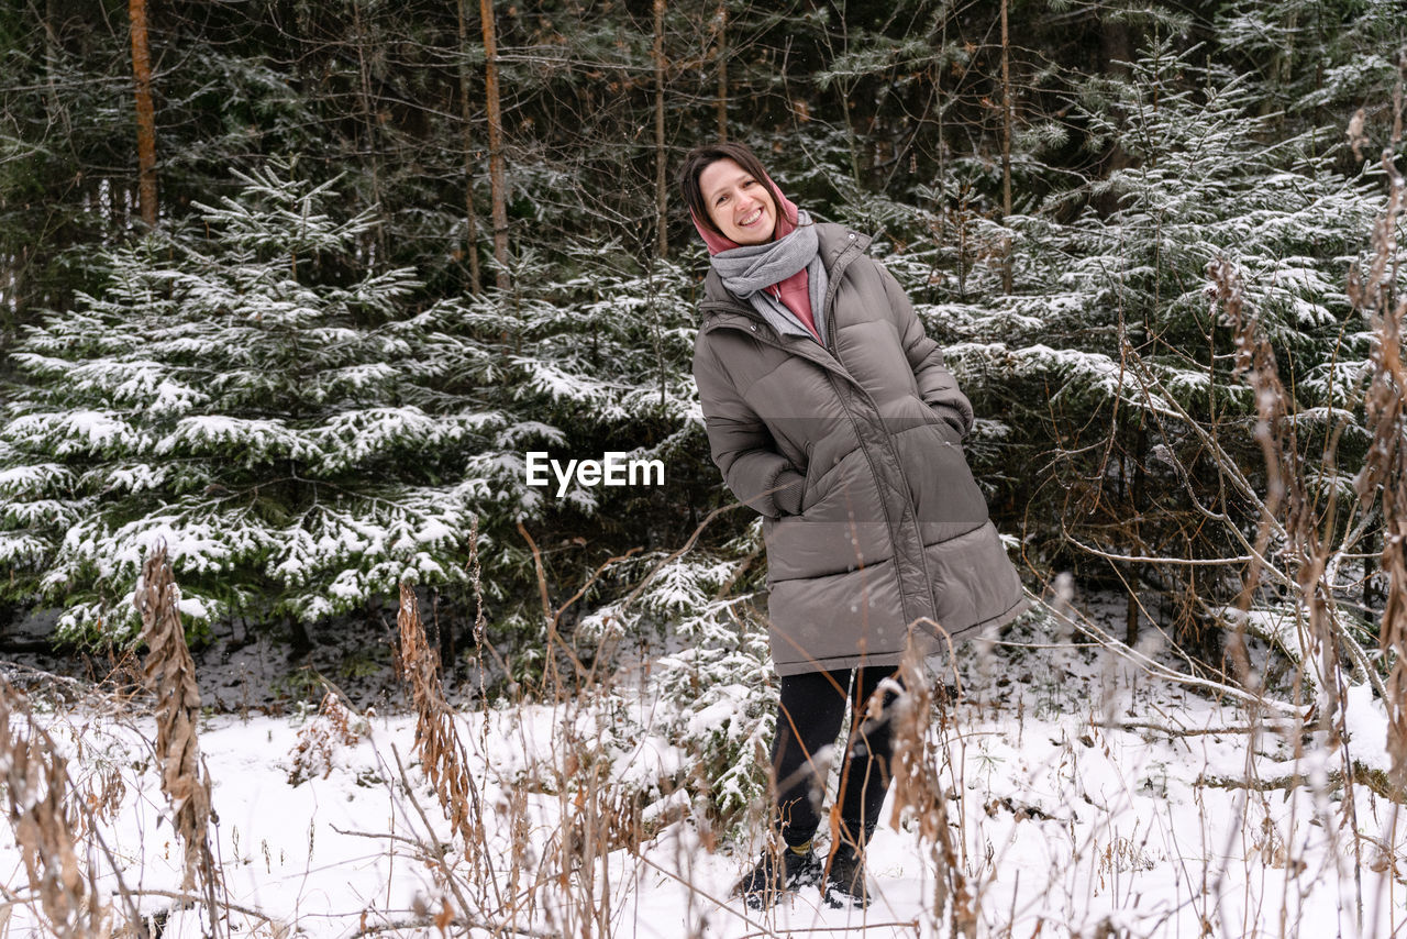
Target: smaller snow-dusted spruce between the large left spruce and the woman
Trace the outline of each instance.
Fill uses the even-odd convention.
[[[591,583],[559,618],[559,631],[575,642],[574,624],[633,590],[723,491],[708,462],[689,373],[696,327],[689,296],[695,280],[684,273],[687,266],[644,267],[609,244],[575,251],[568,263],[549,270],[519,256],[514,283],[521,287],[467,300],[454,315],[481,342],[483,356],[466,363],[477,407],[501,415],[484,448],[469,458],[469,472],[487,483],[498,505],[481,548],[485,570],[497,572],[485,574],[491,618],[511,632],[546,632],[521,521],[537,543],[554,611]],[[664,484],[561,484],[549,473],[547,486],[528,486],[529,452],[561,463],[608,452],[626,463],[658,460]],[[730,525],[736,521],[725,518],[718,528]],[[609,557],[632,550],[639,553],[628,563],[611,563],[595,576]],[[668,618],[630,622],[656,635]],[[592,656],[594,642],[584,639],[577,655]],[[533,655],[533,645],[523,648],[518,664],[532,670]]]

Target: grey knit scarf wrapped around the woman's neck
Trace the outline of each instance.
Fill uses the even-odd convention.
[[[820,263],[816,227],[803,210],[796,211],[796,229],[785,238],[761,245],[744,245],[720,251],[711,259],[713,270],[723,279],[723,286],[740,300],[753,304],[767,324],[781,335],[809,336],[810,329],[802,325],[787,304],[781,303],[767,287],[787,280],[802,267],[806,269],[806,293],[810,294],[810,315],[816,321],[816,332],[826,335],[826,266]],[[825,339],[822,339],[825,345]]]

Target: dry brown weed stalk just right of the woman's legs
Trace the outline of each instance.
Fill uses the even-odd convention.
[[[923,657],[910,650],[899,666],[902,694],[891,705],[893,749],[889,769],[893,773],[895,829],[905,818],[919,828],[919,839],[930,845],[937,866],[933,886],[933,915],[948,911],[950,935],[976,936],[976,895],[958,860],[957,845],[948,826],[948,800],[938,769],[943,753],[936,752],[929,735],[937,710],[933,687]]]

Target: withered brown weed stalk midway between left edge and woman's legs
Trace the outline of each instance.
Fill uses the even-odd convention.
[[[454,712],[440,687],[438,656],[425,639],[419,600],[409,584],[401,584],[395,624],[401,634],[401,676],[409,681],[415,702],[415,753],[450,828],[464,840],[466,853],[471,853],[483,843],[484,812],[454,728]]]

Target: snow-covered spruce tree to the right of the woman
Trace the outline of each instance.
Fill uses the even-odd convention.
[[[1209,305],[1207,265],[1235,265],[1296,396],[1300,445],[1323,448],[1346,418],[1342,363],[1366,351],[1342,283],[1379,200],[1313,137],[1275,138],[1238,82],[1168,41],[1075,104],[1095,145],[1117,141],[1127,165],[1010,220],[1012,296],[920,315],[992,417],[974,439],[979,463],[1040,467],[1000,480],[993,505],[1024,515],[1027,556],[1131,593],[1162,588],[1190,639],[1235,595],[1225,559],[1245,555],[1258,521],[1224,474],[1244,467],[1265,491],[1254,401]],[[1363,439],[1349,421],[1344,458]],[[1351,474],[1324,466],[1321,491]]]

